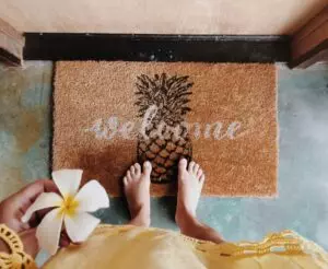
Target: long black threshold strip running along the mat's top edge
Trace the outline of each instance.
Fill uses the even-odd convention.
[[[284,35],[25,33],[25,60],[288,62]]]

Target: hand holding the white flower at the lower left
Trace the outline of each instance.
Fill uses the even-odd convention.
[[[51,180],[37,180],[27,185],[19,192],[10,196],[0,203],[0,224],[3,223],[15,233],[17,233],[24,244],[24,250],[32,257],[39,252],[37,239],[35,237],[36,226],[40,223],[43,217],[48,210],[34,213],[28,223],[22,222],[22,217],[26,210],[43,192],[57,192],[57,187]],[[66,238],[62,239],[66,245]],[[0,252],[3,250],[4,244],[0,242]],[[2,248],[1,248],[2,247]]]

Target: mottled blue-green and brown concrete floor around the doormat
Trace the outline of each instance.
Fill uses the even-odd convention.
[[[199,217],[229,241],[294,230],[328,249],[328,66],[279,66],[279,198],[202,198]],[[49,176],[51,62],[0,67],[0,200]],[[174,198],[152,200],[152,225],[176,230]],[[121,199],[96,213],[125,223]]]

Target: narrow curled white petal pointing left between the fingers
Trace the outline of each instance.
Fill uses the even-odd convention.
[[[34,203],[26,210],[22,218],[22,222],[27,222],[32,214],[40,209],[59,207],[62,198],[56,192],[43,192],[39,195]]]

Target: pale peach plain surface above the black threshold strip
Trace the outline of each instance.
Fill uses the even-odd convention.
[[[24,32],[291,34],[327,0],[0,0]]]

